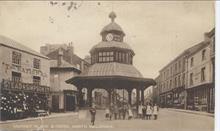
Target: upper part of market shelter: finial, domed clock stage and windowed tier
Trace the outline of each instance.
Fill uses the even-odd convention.
[[[134,51],[123,42],[125,36],[122,28],[115,23],[116,14],[109,14],[111,23],[106,25],[100,35],[102,41],[90,50],[92,64],[117,62],[132,65]]]

